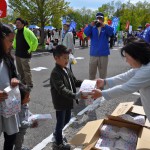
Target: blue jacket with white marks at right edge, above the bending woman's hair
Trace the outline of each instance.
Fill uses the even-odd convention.
[[[150,44],[150,27],[147,27],[138,37]]]

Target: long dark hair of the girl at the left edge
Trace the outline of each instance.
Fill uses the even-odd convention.
[[[0,23],[0,59],[2,59],[4,55],[6,55],[3,41],[5,37],[8,36],[10,33],[14,33],[13,29],[8,25]]]

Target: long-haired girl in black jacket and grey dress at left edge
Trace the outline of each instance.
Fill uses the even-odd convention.
[[[0,23],[0,135],[4,133],[3,150],[12,150],[16,134],[19,131],[17,114],[5,118],[2,115],[2,103],[8,98],[4,89],[19,84],[13,57],[10,54],[14,38],[13,30]]]

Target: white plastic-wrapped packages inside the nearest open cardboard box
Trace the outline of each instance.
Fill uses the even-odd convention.
[[[128,128],[103,125],[95,148],[102,150],[135,150],[137,134]]]

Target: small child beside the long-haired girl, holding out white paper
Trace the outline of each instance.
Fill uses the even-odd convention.
[[[30,122],[28,118],[32,115],[29,111],[28,102],[30,101],[30,89],[27,89],[24,85],[20,88],[21,94],[21,111],[19,112],[19,121],[20,127],[19,132],[17,133],[16,140],[15,140],[15,147],[14,150],[29,150],[27,147],[23,146],[24,136],[26,134],[27,129],[35,128],[38,126],[36,120]]]

